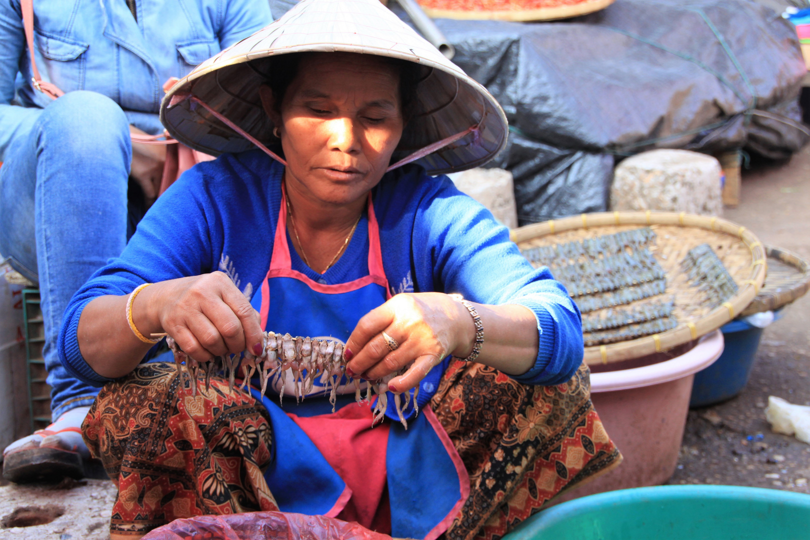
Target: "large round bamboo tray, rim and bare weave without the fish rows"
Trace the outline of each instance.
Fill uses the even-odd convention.
[[[726,219],[675,212],[605,212],[534,223],[511,232],[521,249],[563,244],[615,232],[650,227],[657,235],[650,252],[667,274],[665,295],[674,297],[678,325],[672,330],[585,348],[586,364],[608,364],[667,351],[718,329],[743,313],[765,281],[765,248],[752,232]],[[689,249],[708,243],[739,290],[716,308],[696,302],[702,293],[680,270]],[[643,301],[643,300],[642,300]],[[633,303],[635,304],[635,303]],[[631,305],[633,305],[631,304]]]

